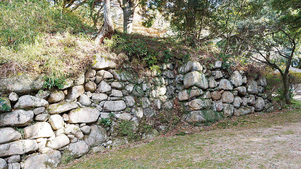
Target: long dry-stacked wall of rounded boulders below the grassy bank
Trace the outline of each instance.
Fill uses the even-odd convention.
[[[27,83],[18,82],[14,92],[14,83],[2,80],[7,85],[2,92],[9,94],[2,100],[13,109],[0,114],[0,169],[56,167],[62,156],[79,158],[156,137],[166,126],[143,133],[139,131],[141,119],[172,110],[176,100],[189,111],[183,120],[194,124],[274,110],[269,103],[272,96],[264,93],[264,77],[248,79],[244,71],[227,75],[220,70],[221,61],[209,68],[195,61],[182,66],[167,63],[159,65],[160,70],[136,75],[130,65],[116,69],[114,62],[100,55],[94,58],[92,69],[68,79],[61,91],[31,96],[21,90],[30,92]],[[110,127],[100,125],[111,113]],[[140,137],[120,137],[116,132],[119,120],[132,121],[131,130],[140,132]],[[23,129],[23,135],[16,129]]]

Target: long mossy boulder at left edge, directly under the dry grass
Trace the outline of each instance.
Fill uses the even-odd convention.
[[[36,93],[44,88],[44,80],[39,75],[20,75],[0,79],[0,92],[15,92],[19,95]]]

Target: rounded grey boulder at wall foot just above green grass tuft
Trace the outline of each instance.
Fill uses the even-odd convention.
[[[79,158],[89,152],[89,146],[86,142],[80,140],[75,143],[70,143],[68,148],[63,151],[63,155]]]

